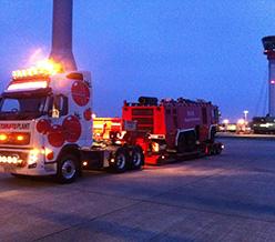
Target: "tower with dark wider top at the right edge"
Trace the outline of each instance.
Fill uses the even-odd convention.
[[[275,36],[262,39],[268,60],[268,115],[275,117]]]

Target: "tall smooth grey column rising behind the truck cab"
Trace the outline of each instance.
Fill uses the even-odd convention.
[[[78,69],[72,53],[72,0],[53,0],[50,59],[61,63],[64,71]]]

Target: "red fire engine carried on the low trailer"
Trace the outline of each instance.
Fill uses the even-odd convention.
[[[126,122],[135,123],[134,131],[123,127]],[[218,109],[211,102],[141,97],[136,103],[124,102],[125,134],[120,142],[140,145],[147,164],[175,155],[221,153],[223,147],[215,142],[217,123]]]

